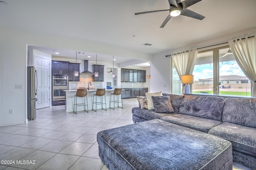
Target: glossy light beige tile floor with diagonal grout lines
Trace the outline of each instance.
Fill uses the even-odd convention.
[[[138,101],[123,101],[123,109],[77,114],[66,113],[65,106],[46,107],[27,124],[0,127],[0,160],[15,162],[0,164],[0,170],[108,170],[98,156],[96,134],[133,123],[131,109]],[[16,160],[31,162],[16,164]]]

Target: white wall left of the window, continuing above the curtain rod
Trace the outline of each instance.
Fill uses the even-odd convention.
[[[193,44],[186,45],[184,47],[180,47],[176,49],[171,49],[170,47],[171,50],[169,51],[165,51],[165,52],[153,55],[153,60],[151,61],[151,80],[150,80],[151,90],[150,91],[151,92],[162,91],[166,93],[171,92],[170,57],[165,57],[166,55],[179,53],[181,51],[186,51],[195,47],[200,48],[200,47],[206,47],[210,45],[216,45],[219,43],[228,42],[228,40],[230,39],[238,39],[240,37],[244,38],[246,35],[252,36],[254,34],[256,34],[256,27],[245,29],[236,33],[230,33],[228,35],[216,37],[214,39],[193,43]]]

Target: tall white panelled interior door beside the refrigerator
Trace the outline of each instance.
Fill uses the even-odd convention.
[[[50,60],[34,55],[38,75],[36,109],[50,106]]]

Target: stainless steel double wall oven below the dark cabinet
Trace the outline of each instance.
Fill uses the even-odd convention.
[[[68,90],[68,76],[52,76],[52,101],[65,100]]]

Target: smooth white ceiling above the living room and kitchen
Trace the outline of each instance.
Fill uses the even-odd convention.
[[[205,16],[204,20],[178,16],[171,18],[164,28],[160,25],[168,11],[137,16],[134,13],[168,9],[168,0],[4,1],[7,5],[0,4],[3,28],[64,35],[149,54],[256,27],[256,0],[202,0],[188,9]],[[145,47],[144,43],[152,46]],[[54,49],[35,48],[55,53]],[[55,50],[62,57],[75,57],[75,51]],[[101,56],[107,61],[112,57],[98,57]],[[116,62],[130,59],[119,60]]]

